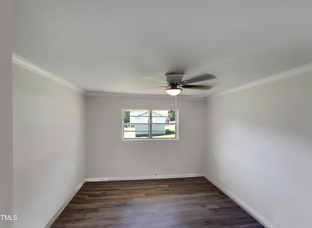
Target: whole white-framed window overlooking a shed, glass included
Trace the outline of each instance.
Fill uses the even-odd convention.
[[[122,110],[123,139],[177,139],[177,110]]]

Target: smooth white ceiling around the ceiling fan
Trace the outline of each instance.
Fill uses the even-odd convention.
[[[13,52],[85,91],[208,96],[312,62],[311,0],[13,0]]]

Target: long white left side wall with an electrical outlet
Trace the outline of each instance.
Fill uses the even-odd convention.
[[[13,65],[15,228],[43,228],[84,179],[84,109],[83,95]]]

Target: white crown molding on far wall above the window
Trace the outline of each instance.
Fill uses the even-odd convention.
[[[175,98],[171,95],[156,95],[156,94],[122,94],[122,93],[109,93],[109,92],[88,92],[86,91],[84,95],[87,96],[117,96],[117,97],[143,97],[143,98]],[[196,101],[205,101],[204,97],[195,97],[195,96],[186,96],[186,95],[177,95],[177,99],[183,100],[196,100]]]

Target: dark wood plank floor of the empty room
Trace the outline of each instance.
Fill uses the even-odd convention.
[[[262,228],[204,177],[86,182],[52,228]]]

